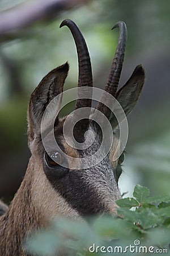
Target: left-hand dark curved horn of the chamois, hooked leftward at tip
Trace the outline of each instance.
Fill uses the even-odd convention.
[[[70,19],[63,20],[63,22],[59,27],[63,27],[63,26],[69,27],[76,44],[76,51],[78,53],[78,62],[79,62],[78,87],[92,86],[93,81],[92,81],[91,61],[90,61],[90,55],[88,53],[84,36],[80,32],[76,24]],[[78,100],[76,100],[75,109],[79,109],[82,107],[91,108],[91,100],[86,98],[83,99],[83,95],[81,95],[78,90]]]

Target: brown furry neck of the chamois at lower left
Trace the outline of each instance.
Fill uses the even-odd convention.
[[[30,160],[28,171],[14,200],[7,212],[0,217],[1,256],[27,255],[22,246],[25,234],[28,235],[42,223],[32,204],[32,171]]]

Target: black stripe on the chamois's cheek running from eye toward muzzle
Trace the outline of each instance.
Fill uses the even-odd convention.
[[[72,208],[76,209],[80,215],[87,216],[103,213],[104,205],[101,203],[95,189],[89,187],[86,181],[83,182],[83,172],[84,170],[71,170],[61,179],[55,179],[49,172],[45,172],[45,174],[53,188],[56,189],[67,203],[69,203]]]

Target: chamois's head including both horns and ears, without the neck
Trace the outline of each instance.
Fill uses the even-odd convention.
[[[72,146],[67,143],[63,134],[63,127],[67,117],[58,118],[58,115],[54,117],[52,114],[54,122],[51,125],[50,117],[52,115],[50,115],[49,111],[49,125],[46,122],[45,129],[41,127],[42,117],[47,106],[56,96],[61,95],[63,92],[63,84],[69,71],[69,65],[65,63],[53,69],[41,80],[29,100],[28,144],[32,157],[28,171],[33,170],[32,199],[40,212],[46,214],[46,217],[56,215],[83,217],[104,212],[115,214],[115,201],[121,197],[117,183],[122,172],[122,155],[114,160],[113,155],[117,148],[120,148],[120,142],[115,135],[111,142],[112,147],[109,153],[105,155],[105,146],[107,142],[110,143],[110,138],[108,137],[107,141],[105,141],[105,146],[102,147],[103,151],[100,150],[100,155],[105,156],[100,161],[97,161],[99,155],[95,153],[101,146],[103,134],[99,123],[94,121],[94,117],[100,112],[103,118],[103,125],[106,119],[108,121],[112,120],[113,133],[117,129],[117,119],[111,113],[111,109],[108,108],[108,94],[101,96],[101,101],[98,103],[95,112],[91,113],[93,82],[90,55],[86,42],[73,21],[69,19],[63,20],[60,27],[63,26],[69,27],[73,34],[79,62],[78,99],[76,100],[75,110],[80,111],[76,112],[77,114],[72,113],[69,115],[71,118],[69,119],[70,122],[67,122],[66,130],[69,134],[69,129],[72,127],[71,122],[78,118],[79,121],[75,122],[73,129],[74,138],[70,138],[69,135],[68,137],[69,141],[75,139],[74,143],[78,143],[78,145],[85,143],[85,146],[78,148],[73,146],[74,143],[71,144]],[[134,108],[141,93],[145,81],[145,72],[142,66],[138,65],[128,82],[117,92],[124,61],[127,31],[124,22],[118,22],[113,28],[116,27],[120,28],[120,36],[111,72],[104,90],[116,98],[122,109],[124,109],[125,115],[128,115]],[[80,90],[83,87],[85,88],[84,91]],[[85,92],[87,92],[89,98],[85,96]],[[104,105],[104,102],[106,102],[106,105]],[[114,105],[113,102],[110,103]],[[56,104],[61,105],[61,97],[58,98]],[[81,119],[81,109],[83,110],[84,107],[87,109],[86,118]],[[51,110],[53,112],[52,108]],[[82,116],[84,117],[83,114]],[[58,148],[55,148],[53,142],[50,141],[52,132]],[[48,148],[48,152],[46,152],[42,137],[51,145],[51,148],[50,146]],[[87,144],[90,144],[90,146],[86,147]],[[96,164],[94,162],[91,164],[88,161],[90,156],[94,156],[93,161]],[[69,157],[71,160],[69,160]],[[80,161],[76,162],[77,159]],[[86,159],[86,161],[81,162],[82,159]]]

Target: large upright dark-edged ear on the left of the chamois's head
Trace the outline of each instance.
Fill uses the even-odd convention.
[[[41,119],[46,106],[63,91],[63,84],[69,71],[69,64],[65,63],[53,69],[46,75],[33,91],[28,105],[28,135],[35,138],[41,131]],[[56,117],[56,120],[58,117]]]

